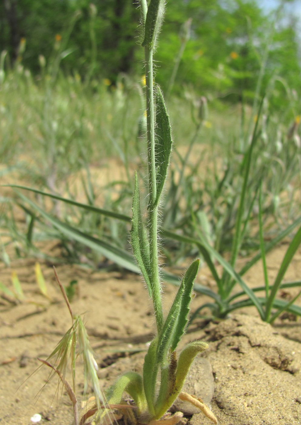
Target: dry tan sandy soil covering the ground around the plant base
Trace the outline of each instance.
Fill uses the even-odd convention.
[[[268,256],[271,277],[276,275],[286,248],[281,245]],[[35,371],[40,365],[37,357],[46,358],[70,327],[70,316],[53,269],[47,263],[41,266],[52,302],[39,294],[34,263],[29,259],[13,261],[11,268],[0,265],[1,282],[10,287],[11,272],[16,271],[26,299],[17,305],[0,299],[0,423],[29,425],[31,417],[39,413],[40,423],[69,425],[72,406],[65,390],[56,393],[58,380],[54,378],[40,392],[49,371],[46,367],[37,374]],[[299,251],[286,279],[300,279],[300,269]],[[58,265],[57,271],[65,285],[78,280],[79,293],[72,308],[84,314],[102,385],[107,387],[125,370],[139,370],[154,331],[152,305],[140,277],[125,272],[93,272],[70,265]],[[253,267],[246,280],[250,286],[262,282],[260,264]],[[214,287],[206,267],[200,269],[197,282]],[[171,304],[176,290],[171,285],[164,287],[165,308]],[[281,295],[290,297],[292,293]],[[192,311],[203,302],[204,297],[194,297]],[[220,323],[197,320],[188,328],[186,341],[203,338],[210,343],[204,357],[212,366],[215,391],[211,406],[220,424],[301,423],[300,323],[300,319],[287,314],[272,327],[262,323],[256,311],[248,308]],[[77,370],[76,389],[80,398],[80,362]],[[203,374],[191,373],[189,390],[198,391],[198,382],[203,382]],[[189,419],[191,425],[209,423],[202,414]]]

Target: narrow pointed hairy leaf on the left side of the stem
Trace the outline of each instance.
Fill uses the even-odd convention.
[[[137,173],[135,173],[135,189],[133,196],[132,212],[133,217],[131,229],[131,243],[133,247],[133,252],[137,260],[138,266],[141,269],[147,288],[149,290],[149,295],[152,296],[152,285],[149,279],[149,241],[146,235],[146,229],[142,221]]]

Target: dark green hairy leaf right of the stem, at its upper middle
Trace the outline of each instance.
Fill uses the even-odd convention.
[[[158,204],[167,176],[169,157],[172,150],[172,133],[169,116],[166,111],[163,94],[160,87],[155,90],[156,100],[156,135],[155,135],[155,165],[157,196],[155,205]]]

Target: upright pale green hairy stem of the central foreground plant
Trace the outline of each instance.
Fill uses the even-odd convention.
[[[154,85],[152,68],[153,50],[145,47],[145,79],[146,79],[146,124],[147,124],[147,154],[149,167],[149,257],[150,279],[152,284],[152,300],[158,333],[163,326],[163,310],[161,302],[161,288],[158,264],[158,205],[155,205],[157,196],[156,164],[155,164],[155,108]]]

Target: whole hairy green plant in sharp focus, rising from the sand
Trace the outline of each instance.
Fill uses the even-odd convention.
[[[164,0],[141,0],[141,21],[144,30],[142,45],[145,53],[146,75],[146,122],[149,193],[147,224],[143,221],[139,183],[135,175],[135,190],[132,203],[131,242],[133,252],[152,298],[157,335],[150,343],[144,359],[143,375],[127,372],[122,375],[108,394],[109,404],[121,402],[124,391],[135,401],[138,420],[141,423],[160,421],[180,395],[186,375],[194,357],[208,348],[203,341],[189,343],[177,357],[177,346],[188,322],[191,291],[196,278],[199,260],[188,267],[177,295],[166,319],[163,317],[160,269],[158,261],[158,210],[169,166],[172,149],[171,128],[162,92],[153,82],[153,51],[163,20]],[[193,400],[208,418],[217,423],[211,411],[194,397],[186,394],[182,398]],[[177,423],[180,413],[170,417]]]

